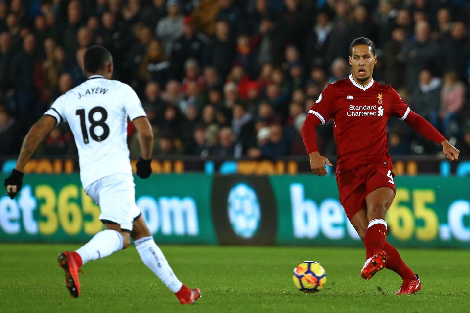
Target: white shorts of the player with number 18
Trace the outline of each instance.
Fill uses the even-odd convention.
[[[141,210],[136,205],[134,177],[131,174],[105,176],[94,181],[85,192],[99,205],[101,222],[116,223],[122,230],[132,231],[132,224]]]

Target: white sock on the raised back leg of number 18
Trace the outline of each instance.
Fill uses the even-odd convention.
[[[116,230],[106,229],[94,235],[88,243],[75,252],[82,257],[82,262],[85,264],[122,250],[122,245],[122,235]]]

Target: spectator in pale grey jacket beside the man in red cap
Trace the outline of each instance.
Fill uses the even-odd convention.
[[[168,0],[166,9],[168,15],[158,22],[155,33],[162,40],[165,51],[170,52],[171,44],[183,35],[183,15],[178,0]]]

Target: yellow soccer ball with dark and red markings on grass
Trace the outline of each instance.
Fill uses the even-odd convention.
[[[320,291],[327,282],[327,273],[320,263],[304,261],[294,268],[292,281],[298,290],[315,293]]]

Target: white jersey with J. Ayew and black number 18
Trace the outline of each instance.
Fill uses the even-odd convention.
[[[45,115],[68,122],[75,137],[80,178],[86,188],[115,173],[132,173],[127,147],[127,117],[146,116],[127,84],[91,76],[55,100]]]

